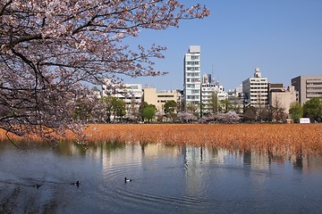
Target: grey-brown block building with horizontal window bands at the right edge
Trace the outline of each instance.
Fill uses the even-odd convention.
[[[322,98],[322,75],[303,75],[292,78],[292,86],[298,92],[296,101],[303,104],[310,98]]]

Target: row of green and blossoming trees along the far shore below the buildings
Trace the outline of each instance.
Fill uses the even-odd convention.
[[[113,96],[104,96],[100,99],[90,98],[91,102],[84,102],[80,97],[80,103],[76,105],[73,118],[83,123],[115,123],[115,122],[180,122],[180,123],[237,123],[237,122],[285,122],[286,119],[293,119],[299,122],[300,118],[309,118],[312,122],[322,121],[322,101],[319,98],[312,98],[307,103],[292,103],[289,114],[278,103],[269,106],[248,106],[236,107],[229,100],[208,103],[203,106],[202,117],[200,109],[194,103],[188,103],[184,111],[178,108],[174,100],[166,101],[162,109],[157,109],[154,104],[147,102],[136,103],[126,106],[122,99]],[[77,102],[77,100],[76,100]],[[207,111],[206,111],[207,110]],[[1,112],[4,114],[5,112]]]

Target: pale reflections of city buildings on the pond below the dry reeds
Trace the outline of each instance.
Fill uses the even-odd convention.
[[[74,151],[75,150],[75,151]],[[73,148],[72,153],[77,152]],[[228,152],[225,149],[195,146],[167,146],[165,144],[123,144],[117,148],[106,150],[99,147],[85,155],[89,160],[97,160],[103,171],[115,168],[118,165],[131,165],[135,163],[137,169],[157,167],[159,157],[178,159],[182,158],[182,169],[184,171],[187,192],[198,194],[206,188],[204,180],[213,173],[207,167],[209,164],[225,166],[233,165],[242,169],[245,177],[250,177],[253,182],[260,185],[270,176],[271,164],[284,165],[285,161],[292,163],[293,169],[309,173],[312,169],[322,170],[322,157],[303,156],[302,154],[276,155],[272,153],[259,152]],[[152,161],[153,164],[151,164]],[[232,162],[233,161],[233,162]],[[150,163],[148,163],[150,162]],[[205,164],[208,164],[205,167]],[[223,165],[223,166],[224,166]],[[206,170],[205,170],[206,169]],[[252,177],[253,172],[263,172],[263,176]],[[265,173],[264,173],[265,172]],[[140,173],[140,170],[138,171]]]

